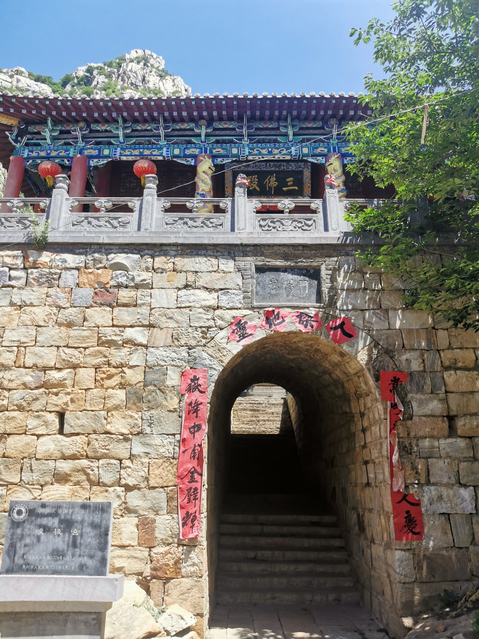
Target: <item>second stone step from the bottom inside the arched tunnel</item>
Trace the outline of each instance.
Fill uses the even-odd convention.
[[[245,575],[243,573],[222,573],[218,572],[217,587],[220,589],[234,590],[316,590],[321,588],[337,589],[354,586],[354,578],[352,576],[338,576],[331,574],[255,574]]]

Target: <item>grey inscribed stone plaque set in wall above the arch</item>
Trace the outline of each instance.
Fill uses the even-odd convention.
[[[321,302],[321,270],[319,268],[255,269],[255,304],[308,305]]]

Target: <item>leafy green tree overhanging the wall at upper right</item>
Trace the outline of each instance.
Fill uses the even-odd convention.
[[[361,259],[406,282],[407,305],[479,330],[479,0],[392,6],[390,22],[351,29],[356,45],[374,42],[384,77],[365,77],[372,116],[345,133],[358,157],[351,171],[392,183],[399,203],[349,216],[381,236]]]

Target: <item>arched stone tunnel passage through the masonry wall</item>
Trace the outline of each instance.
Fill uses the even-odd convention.
[[[280,491],[276,493],[273,492],[274,477],[273,482],[271,477],[265,479],[264,474],[255,470],[252,464],[254,444],[248,443],[241,455],[238,442],[234,441],[235,434],[231,431],[231,410],[236,399],[258,384],[285,389],[293,426],[289,453],[284,456],[282,450],[278,465],[271,464],[271,459],[267,464],[265,462],[270,474],[271,468],[277,474],[276,485],[280,486]],[[265,401],[265,410],[267,408]],[[270,523],[274,528],[275,521],[268,520],[268,515],[275,514],[278,503],[271,503],[271,499],[268,501],[268,496],[275,495],[273,502],[277,500],[281,507],[287,505],[282,511],[285,516],[288,515],[288,507],[290,516],[300,516],[300,520],[294,522],[301,529],[298,528],[296,537],[299,535],[306,540],[301,544],[307,544],[309,550],[316,553],[309,555],[314,564],[313,571],[317,571],[322,560],[320,553],[328,545],[324,541],[332,539],[333,546],[342,546],[343,551],[346,548],[346,560],[349,560],[357,585],[357,588],[354,585],[356,593],[360,593],[361,599],[378,617],[384,621],[388,619],[386,598],[390,601],[391,597],[386,597],[386,594],[390,595],[391,585],[384,557],[386,550],[392,546],[386,433],[383,406],[365,368],[349,353],[316,335],[268,335],[244,346],[229,360],[215,383],[209,412],[207,511],[210,610],[224,596],[222,583],[215,592],[215,580],[220,575],[218,562],[221,564],[222,561],[220,539],[224,528],[234,534],[235,526],[239,526],[236,532],[245,531],[244,544],[250,543],[248,535],[254,534],[255,530],[257,532],[258,528],[264,531]],[[271,448],[268,442],[266,445],[261,443],[260,448],[262,456],[266,456],[268,450],[274,454],[274,447]],[[238,476],[239,473],[242,473],[243,479]],[[291,490],[285,486],[284,479],[295,483]],[[235,495],[243,496],[243,505],[241,500],[238,503]],[[245,507],[249,519],[228,518],[229,513],[244,514]],[[289,527],[287,518],[281,523]],[[241,528],[241,525],[246,525],[246,528]],[[329,532],[326,530],[328,527]],[[284,535],[287,537],[288,534],[286,530]],[[285,537],[278,541],[274,535],[271,537],[270,546],[276,553],[275,558],[283,563],[291,557],[298,560],[291,553],[288,555],[289,550],[298,550],[294,531],[291,534],[293,541]],[[250,549],[247,559],[257,558],[261,558],[258,548]],[[284,577],[284,574],[281,575]],[[326,576],[331,575],[328,573]],[[268,596],[268,592],[275,591],[280,597],[284,583],[293,584],[294,589],[294,580],[291,579],[275,579],[270,582],[271,587],[263,581],[262,587],[256,590],[254,583],[252,585],[247,580],[239,580],[238,583],[243,583],[250,591],[250,603],[259,604],[275,601],[275,594]],[[330,588],[328,583],[324,581],[326,588],[321,589],[317,579],[310,580],[306,589],[300,594],[299,590],[296,592],[294,603],[338,601],[335,594],[338,589],[334,587],[336,582],[331,581],[333,586]],[[349,592],[352,590],[350,586]],[[232,595],[238,602],[241,596],[239,591]],[[305,601],[300,601],[303,596]]]

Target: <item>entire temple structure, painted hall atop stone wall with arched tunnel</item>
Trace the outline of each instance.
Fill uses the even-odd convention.
[[[110,572],[201,639],[241,603],[400,638],[479,577],[479,334],[356,257],[347,207],[395,197],[348,171],[370,116],[0,95],[3,514],[112,502]]]

